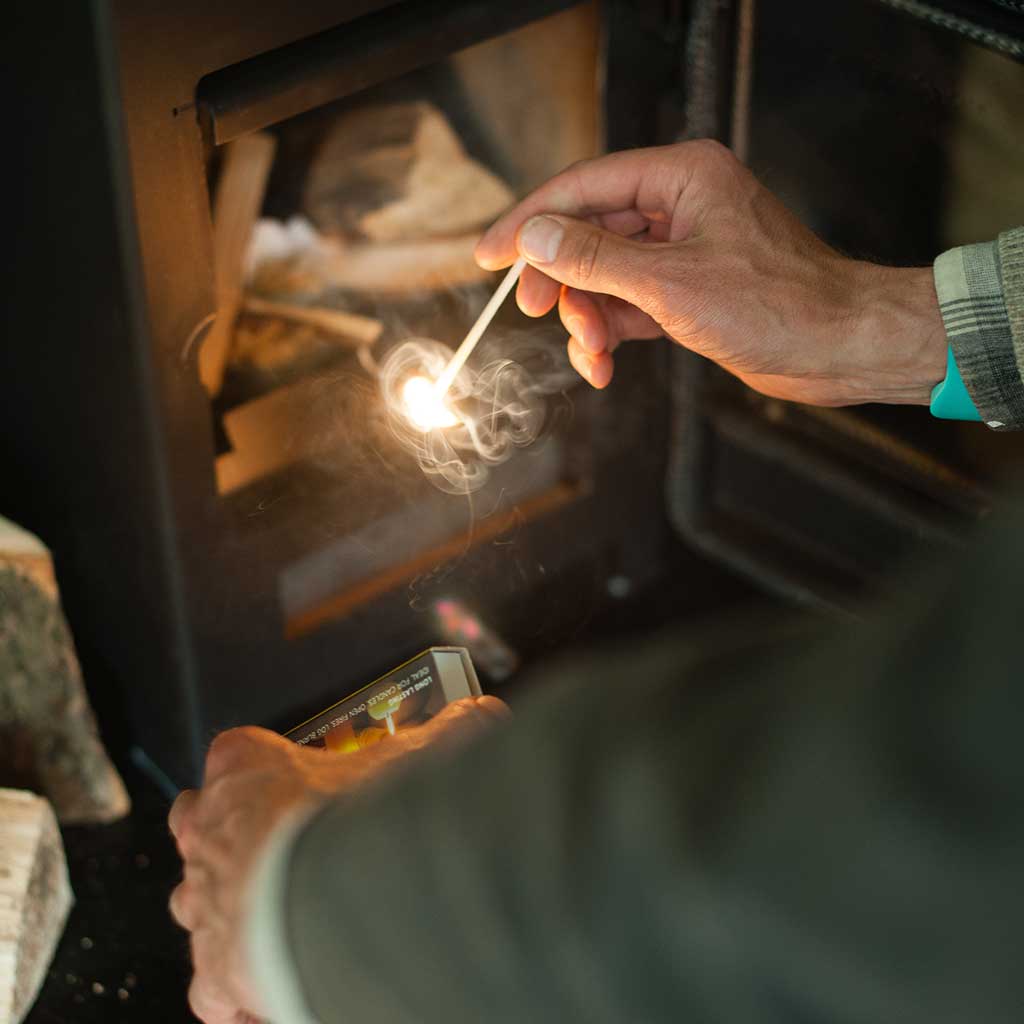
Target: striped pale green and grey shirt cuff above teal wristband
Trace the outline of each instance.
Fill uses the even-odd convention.
[[[1004,298],[999,247],[962,246],[935,261],[935,291],[964,384],[995,430],[1024,428],[1024,382]]]

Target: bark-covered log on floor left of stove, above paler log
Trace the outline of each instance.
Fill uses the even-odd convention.
[[[130,807],[99,741],[49,552],[3,518],[0,785],[43,794],[66,824],[113,821]]]

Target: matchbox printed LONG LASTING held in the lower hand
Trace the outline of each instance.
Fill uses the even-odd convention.
[[[300,746],[354,754],[480,692],[465,647],[430,647],[285,735]]]

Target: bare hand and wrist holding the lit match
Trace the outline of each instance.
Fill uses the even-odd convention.
[[[931,269],[841,256],[717,142],[573,165],[476,249],[488,269],[517,255],[530,264],[519,307],[558,303],[595,387],[620,342],[663,334],[765,394],[820,406],[927,403],[945,376]]]

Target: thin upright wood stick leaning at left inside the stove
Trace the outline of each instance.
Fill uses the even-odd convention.
[[[273,163],[276,140],[265,132],[243,135],[227,146],[213,208],[217,316],[199,351],[199,376],[216,395],[224,379],[234,321],[242,306],[245,260]]]

